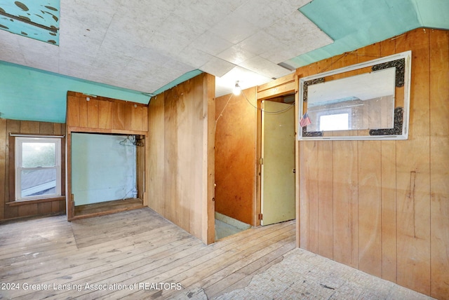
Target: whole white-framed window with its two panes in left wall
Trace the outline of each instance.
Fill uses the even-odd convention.
[[[15,138],[15,200],[61,196],[61,140]]]

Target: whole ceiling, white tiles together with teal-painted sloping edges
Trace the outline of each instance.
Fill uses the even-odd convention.
[[[148,103],[202,71],[220,96],[410,29],[449,29],[447,0],[55,1],[0,0],[2,118],[64,122],[67,90]],[[57,18],[55,39],[8,11]]]

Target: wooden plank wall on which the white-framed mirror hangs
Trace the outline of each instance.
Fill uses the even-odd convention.
[[[297,74],[406,50],[413,55],[408,140],[299,142],[300,247],[448,299],[449,32],[415,29]]]

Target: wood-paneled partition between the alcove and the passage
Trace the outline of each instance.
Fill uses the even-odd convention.
[[[200,74],[149,102],[149,207],[213,243],[215,78]]]

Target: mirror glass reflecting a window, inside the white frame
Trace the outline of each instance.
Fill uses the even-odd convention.
[[[308,86],[307,132],[394,128],[396,68]]]

